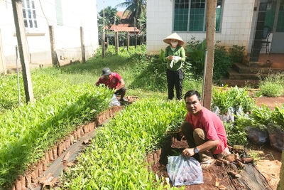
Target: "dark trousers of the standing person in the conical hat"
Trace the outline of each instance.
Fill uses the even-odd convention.
[[[168,70],[167,69],[167,83],[168,83],[168,99],[173,100],[173,88],[177,93],[177,99],[182,100],[182,69]]]

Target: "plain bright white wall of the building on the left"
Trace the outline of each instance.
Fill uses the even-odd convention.
[[[41,2],[41,6],[40,6]],[[48,25],[54,27],[55,50],[58,59],[81,60],[80,26],[84,29],[86,58],[99,48],[96,0],[62,0],[63,25],[57,24],[55,1],[35,1],[38,28],[26,28],[26,40],[31,63],[51,64]],[[16,29],[11,0],[0,0],[1,37],[6,65],[16,64]]]

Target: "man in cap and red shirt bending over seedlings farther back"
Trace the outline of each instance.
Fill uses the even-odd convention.
[[[97,80],[96,85],[104,84],[110,89],[114,89],[115,95],[121,95],[120,100],[127,102],[124,97],[126,93],[124,80],[118,73],[112,73],[109,68],[102,69],[102,76]]]

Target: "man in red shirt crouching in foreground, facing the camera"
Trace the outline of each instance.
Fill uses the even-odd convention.
[[[214,112],[202,106],[200,93],[190,90],[185,93],[187,116],[181,125],[182,133],[190,148],[184,149],[182,155],[200,156],[202,168],[210,167],[217,159],[228,154],[226,131],[222,120]]]

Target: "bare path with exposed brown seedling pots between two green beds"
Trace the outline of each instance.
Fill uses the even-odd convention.
[[[47,150],[45,157],[26,170],[25,174],[11,186],[12,190],[43,189],[59,185],[59,177],[62,171],[67,171],[76,163],[76,157],[84,151],[89,141],[94,137],[97,127],[107,122],[116,112],[124,109],[124,106],[113,106],[102,112],[93,121],[74,130],[70,135],[62,139],[54,147]]]

